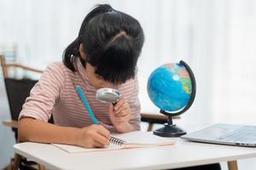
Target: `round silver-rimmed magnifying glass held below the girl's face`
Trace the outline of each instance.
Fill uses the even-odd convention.
[[[100,88],[96,91],[96,99],[104,103],[115,105],[120,99],[120,93],[113,88]]]

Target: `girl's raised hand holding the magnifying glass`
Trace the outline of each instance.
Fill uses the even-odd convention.
[[[131,119],[131,108],[130,105],[125,102],[125,99],[119,99],[118,103],[113,106],[109,105],[109,118],[113,123],[113,127],[119,133],[130,132],[130,119]]]

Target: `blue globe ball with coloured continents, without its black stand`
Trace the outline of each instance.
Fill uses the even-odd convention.
[[[176,113],[189,103],[192,84],[189,72],[179,63],[162,65],[148,78],[148,96],[163,111]]]

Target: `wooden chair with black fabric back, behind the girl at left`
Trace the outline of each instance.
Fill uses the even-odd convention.
[[[23,71],[32,71],[38,74],[41,74],[43,71],[38,69],[33,69],[31,67],[27,67],[26,65],[20,65],[17,63],[7,63],[6,59],[3,55],[0,55],[0,63],[3,71],[3,80],[7,92],[7,97],[9,100],[9,108],[11,113],[11,120],[3,121],[3,125],[7,127],[11,127],[15,133],[16,142],[19,142],[18,137],[18,117],[20,111],[22,109],[22,105],[25,102],[26,97],[29,96],[31,88],[34,86],[37,80],[31,80],[28,78],[17,79],[15,77],[11,77],[9,74],[9,69],[22,69]],[[16,71],[15,71],[16,73]],[[52,120],[51,120],[52,122]],[[35,167],[38,166],[38,169],[44,169],[43,166],[37,165],[33,161],[26,161],[26,158],[21,157],[15,154],[14,158],[11,159],[10,165],[8,169],[37,169]]]

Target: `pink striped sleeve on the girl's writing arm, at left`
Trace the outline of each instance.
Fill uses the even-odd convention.
[[[48,122],[55,103],[60,99],[63,92],[64,83],[65,74],[62,71],[61,63],[55,62],[49,65],[32,88],[30,96],[26,98],[19,119],[22,116],[28,116]]]

